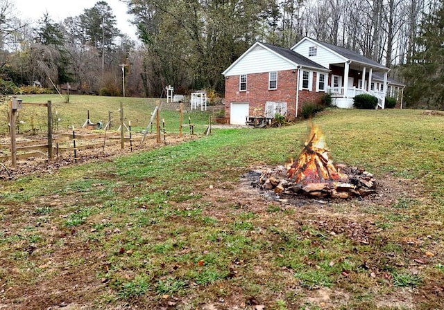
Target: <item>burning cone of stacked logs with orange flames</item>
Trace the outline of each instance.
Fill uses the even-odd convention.
[[[311,124],[310,133],[297,161],[287,166],[287,177],[296,183],[346,181],[348,177],[336,170],[325,147],[321,129]]]

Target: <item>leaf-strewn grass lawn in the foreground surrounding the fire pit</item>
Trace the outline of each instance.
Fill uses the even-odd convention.
[[[126,100],[143,128],[149,112]],[[240,181],[298,156],[307,122],[0,181],[0,309],[444,309],[443,116],[314,122],[376,195],[292,206]]]

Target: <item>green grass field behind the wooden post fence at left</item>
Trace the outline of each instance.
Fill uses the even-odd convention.
[[[71,95],[69,103],[65,103],[65,98],[59,95],[23,95],[23,102],[28,103],[46,103],[51,100],[54,119],[58,121],[58,131],[70,131],[71,126],[80,129],[87,120],[87,111],[89,111],[89,120],[96,124],[103,122],[103,127],[108,122],[108,111],[111,111],[112,128],[116,130],[120,122],[120,103],[123,104],[123,118],[126,125],[131,123],[132,131],[142,131],[146,129],[151,113],[155,109],[156,101],[162,104],[160,118],[165,122],[165,131],[169,134],[179,132],[179,112],[178,103],[166,103],[166,99],[156,98],[128,98],[128,97],[101,97],[94,95]],[[7,104],[0,103],[0,134],[8,133],[8,114]],[[203,131],[208,123],[210,113],[201,113],[200,111],[190,111],[185,106],[183,114],[183,124],[187,125],[189,118],[195,125],[196,131]],[[17,118],[19,132],[38,134],[45,133],[47,128],[46,107],[26,106],[19,111]],[[54,122],[56,130],[56,122]],[[162,126],[162,125],[161,125]],[[155,126],[154,129],[155,131]],[[184,127],[184,134],[189,134],[189,128]],[[103,130],[97,130],[103,131]]]

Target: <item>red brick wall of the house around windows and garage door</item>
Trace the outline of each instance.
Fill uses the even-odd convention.
[[[230,119],[231,102],[248,102],[249,115],[264,114],[265,102],[287,102],[287,119],[295,117],[296,84],[298,73],[295,70],[278,72],[278,89],[268,90],[268,73],[254,73],[247,75],[246,91],[239,91],[239,75],[225,78],[225,118]],[[313,91],[299,91],[298,115],[304,102],[321,103],[323,92],[316,92],[316,73],[313,76]]]

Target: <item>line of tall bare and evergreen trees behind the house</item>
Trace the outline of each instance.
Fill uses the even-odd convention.
[[[212,89],[256,41],[290,48],[304,36],[344,46],[391,68],[410,107],[444,109],[443,0],[126,0],[137,42],[106,1],[76,17],[37,24],[0,0],[0,78],[71,83],[85,93],[158,97]],[[441,89],[442,88],[442,89]]]

